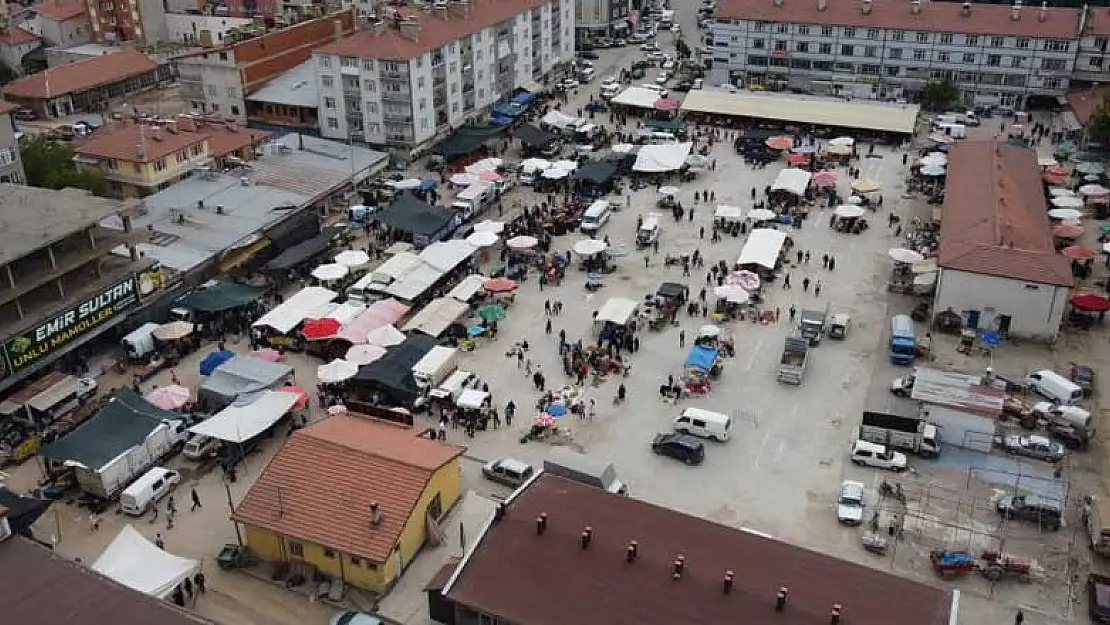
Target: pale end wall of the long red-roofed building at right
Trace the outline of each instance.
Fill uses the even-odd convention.
[[[1068,305],[1068,289],[1021,280],[941,270],[934,299],[934,314],[952,309],[979,311],[979,327],[996,327],[997,315],[1010,315],[1010,334],[1056,336]]]

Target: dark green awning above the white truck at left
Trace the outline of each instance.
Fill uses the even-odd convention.
[[[98,471],[147,440],[163,420],[182,417],[181,413],[151,404],[131,389],[120,389],[92,419],[65,436],[43,445],[39,455],[61,462],[79,462]]]

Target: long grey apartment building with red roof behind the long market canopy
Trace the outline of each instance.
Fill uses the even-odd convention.
[[[950,79],[968,105],[1022,108],[1068,90],[1080,17],[1020,1],[724,0],[706,43],[714,83],[912,99]]]

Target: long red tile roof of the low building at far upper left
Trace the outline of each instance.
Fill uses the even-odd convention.
[[[3,93],[10,98],[44,100],[120,82],[157,69],[158,63],[148,59],[142,52],[125,49],[42,70],[9,83],[3,88]]]

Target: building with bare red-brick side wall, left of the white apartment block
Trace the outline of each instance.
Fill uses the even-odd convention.
[[[354,32],[354,13],[341,11],[178,57],[182,97],[199,113],[246,123],[246,97],[307,61],[312,51]]]

